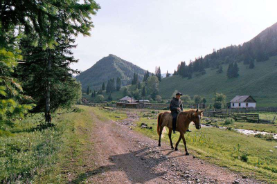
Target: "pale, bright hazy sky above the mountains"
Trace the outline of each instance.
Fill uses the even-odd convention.
[[[91,37],[79,35],[71,68],[109,54],[145,70],[173,73],[180,62],[249,41],[277,22],[276,0],[96,0]]]

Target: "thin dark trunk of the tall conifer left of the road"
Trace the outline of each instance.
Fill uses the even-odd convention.
[[[50,80],[49,73],[51,71],[51,53],[48,48],[48,62],[47,62],[47,84],[46,84],[46,107],[45,107],[45,122],[51,123],[51,113],[50,113]]]

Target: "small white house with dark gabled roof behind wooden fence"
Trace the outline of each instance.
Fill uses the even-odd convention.
[[[230,101],[231,109],[234,108],[256,108],[256,100],[253,99],[250,95],[236,95]]]

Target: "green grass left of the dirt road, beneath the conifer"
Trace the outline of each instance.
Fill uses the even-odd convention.
[[[66,183],[68,172],[76,176],[84,172],[84,152],[92,146],[89,135],[93,124],[89,107],[82,109],[53,115],[55,127],[48,129],[37,129],[43,122],[42,113],[7,127],[12,134],[0,137],[0,182]]]

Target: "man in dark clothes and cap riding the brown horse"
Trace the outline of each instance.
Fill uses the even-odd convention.
[[[183,104],[181,102],[181,95],[182,93],[176,93],[176,96],[171,100],[169,109],[171,111],[173,120],[172,120],[172,129],[173,129],[173,134],[176,134],[176,123],[177,123],[177,116],[178,113],[183,111]],[[190,131],[189,129],[187,131]]]

